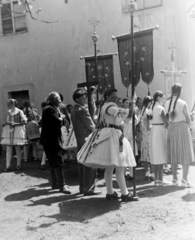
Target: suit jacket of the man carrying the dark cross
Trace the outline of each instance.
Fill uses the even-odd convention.
[[[71,112],[71,120],[77,140],[77,149],[79,151],[85,143],[85,138],[94,131],[95,124],[89,115],[89,111],[78,104],[74,105]]]

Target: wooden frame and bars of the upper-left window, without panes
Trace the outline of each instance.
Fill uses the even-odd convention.
[[[7,3],[4,3],[4,4],[10,4],[10,9],[11,9],[10,15],[11,15],[11,17],[2,19],[2,11],[0,11],[0,15],[1,15],[1,36],[2,37],[8,37],[8,36],[13,36],[13,35],[27,33],[28,32],[27,14],[26,13],[21,13],[21,14],[14,13],[14,4],[18,4],[18,2],[16,0],[10,0],[9,3],[7,2]],[[17,32],[16,31],[17,29],[16,29],[15,20],[17,18],[21,17],[21,16],[24,17],[24,22],[25,22],[25,25],[26,25],[26,29],[24,31]],[[4,34],[3,33],[3,21],[10,20],[10,19],[12,20],[13,32],[12,33],[8,33],[8,34]]]

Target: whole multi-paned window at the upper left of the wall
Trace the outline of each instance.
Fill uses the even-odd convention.
[[[25,6],[13,1],[1,7],[3,36],[27,32]]]

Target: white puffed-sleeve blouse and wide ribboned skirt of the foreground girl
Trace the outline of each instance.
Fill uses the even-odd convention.
[[[105,103],[100,114],[100,123],[103,127],[96,129],[87,138],[77,160],[92,168],[135,167],[131,145],[120,130],[123,124],[121,110],[115,103]]]

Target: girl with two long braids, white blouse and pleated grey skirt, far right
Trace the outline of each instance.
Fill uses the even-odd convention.
[[[179,185],[177,165],[183,167],[182,186],[192,187],[188,182],[190,163],[194,161],[192,138],[190,134],[190,116],[188,105],[180,99],[182,86],[176,83],[172,86],[171,98],[165,103],[165,110],[169,119],[168,127],[168,160],[171,163],[173,184]]]

